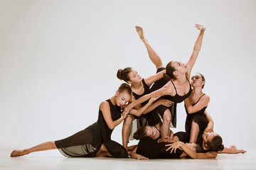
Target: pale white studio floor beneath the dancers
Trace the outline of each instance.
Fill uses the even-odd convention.
[[[0,149],[0,169],[256,169],[256,149],[245,154],[218,154],[216,159],[136,159],[67,158],[57,150],[24,157],[9,157],[11,149]]]

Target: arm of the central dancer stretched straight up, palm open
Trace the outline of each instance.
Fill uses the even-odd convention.
[[[202,46],[202,42],[203,42],[203,33],[206,30],[206,28],[202,25],[196,24],[195,27],[198,30],[200,30],[200,33],[199,33],[198,38],[196,40],[196,43],[193,47],[192,55],[191,55],[190,59],[188,60],[188,62],[186,63],[186,67],[188,68],[188,72],[187,72],[187,75],[186,75],[187,77],[190,77],[191,69],[193,68],[193,65],[195,64],[196,59],[198,57],[198,54],[201,50],[201,46]]]

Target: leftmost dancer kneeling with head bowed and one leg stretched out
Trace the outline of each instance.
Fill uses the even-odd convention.
[[[48,149],[59,149],[60,153],[67,157],[95,157],[103,143],[112,157],[128,157],[127,150],[111,140],[110,136],[114,128],[127,117],[128,112],[121,113],[121,109],[131,97],[130,86],[122,84],[114,96],[102,101],[96,123],[63,140],[44,142],[29,149],[14,150],[11,157]]]

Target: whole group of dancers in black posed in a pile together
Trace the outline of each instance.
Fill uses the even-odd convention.
[[[223,146],[223,140],[213,132],[213,120],[206,111],[210,97],[202,89],[205,78],[200,73],[191,77],[191,69],[201,50],[206,28],[196,24],[200,31],[193,52],[186,64],[171,61],[163,67],[161,57],[136,26],[144,42],[156,74],[142,79],[135,69],[117,71],[117,78],[125,81],[114,96],[100,103],[96,123],[63,140],[44,142],[29,149],[16,149],[11,157],[31,152],[58,149],[66,157],[115,157],[134,159],[156,158],[215,158],[218,153],[245,153],[234,145]],[[186,132],[172,132],[176,128],[176,104],[184,101]],[[122,123],[122,145],[111,140],[114,128]],[[132,133],[132,122],[137,132]],[[139,140],[138,145],[127,146],[129,136]]]

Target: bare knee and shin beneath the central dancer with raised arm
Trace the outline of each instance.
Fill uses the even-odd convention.
[[[171,124],[171,111],[166,109],[163,115],[163,123],[161,125],[161,138],[169,137]]]

